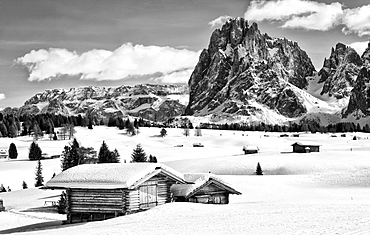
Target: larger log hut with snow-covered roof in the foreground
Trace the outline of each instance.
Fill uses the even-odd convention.
[[[46,183],[66,189],[67,223],[130,214],[172,201],[173,184],[183,174],[158,163],[86,164],[72,167]]]

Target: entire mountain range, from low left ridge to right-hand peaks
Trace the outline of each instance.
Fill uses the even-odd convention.
[[[329,50],[328,50],[329,52]],[[316,71],[297,42],[261,33],[243,18],[214,30],[187,85],[81,87],[37,93],[3,113],[137,116],[180,115],[208,122],[329,124],[370,120],[370,42],[363,55],[343,43]]]

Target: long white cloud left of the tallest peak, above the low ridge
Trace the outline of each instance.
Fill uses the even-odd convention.
[[[29,81],[50,80],[61,75],[101,81],[192,70],[199,53],[186,49],[126,43],[114,51],[93,49],[82,54],[61,48],[33,50],[16,59],[16,62],[28,68]]]

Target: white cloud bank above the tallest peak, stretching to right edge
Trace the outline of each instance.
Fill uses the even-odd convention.
[[[255,0],[245,12],[251,21],[279,21],[283,28],[330,30],[344,25],[344,33],[370,35],[370,5],[344,9],[339,2],[331,4],[309,0]]]

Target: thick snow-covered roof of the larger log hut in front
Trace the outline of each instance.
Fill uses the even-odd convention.
[[[72,167],[49,180],[44,188],[135,188],[159,173],[185,183],[183,174],[160,163],[106,163]]]

